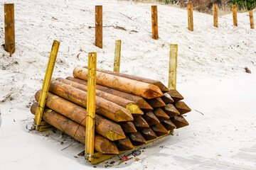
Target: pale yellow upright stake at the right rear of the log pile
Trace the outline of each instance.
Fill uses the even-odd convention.
[[[169,89],[176,89],[176,77],[177,77],[177,57],[178,57],[178,45],[170,45],[170,59],[169,59]],[[174,133],[174,130],[171,130]]]

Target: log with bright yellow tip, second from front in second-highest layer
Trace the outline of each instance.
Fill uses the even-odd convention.
[[[63,78],[57,78],[56,80],[87,92],[87,86],[79,84],[75,81],[71,81],[71,80],[63,79]],[[112,101],[113,103],[116,103],[119,106],[127,108],[127,110],[129,110],[132,113],[132,115],[143,115],[142,110],[139,108],[139,106],[137,106],[136,103],[134,103],[134,101],[129,101],[125,98],[121,98],[121,97],[115,96],[113,94],[108,94],[105,91],[100,91],[97,89],[96,89],[96,96],[98,96],[100,98],[104,98],[107,101]]]

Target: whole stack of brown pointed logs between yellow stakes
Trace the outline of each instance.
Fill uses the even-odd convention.
[[[43,120],[85,143],[87,68],[50,82]],[[160,81],[102,69],[96,74],[95,150],[119,154],[188,125],[183,96]],[[36,93],[39,100],[41,91]],[[33,103],[31,113],[36,113]]]

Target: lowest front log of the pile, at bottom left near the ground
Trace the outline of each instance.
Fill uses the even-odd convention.
[[[36,114],[37,106],[38,103],[33,103],[31,113]],[[44,109],[43,120],[85,144],[85,127],[83,125],[75,123],[73,120],[48,108]],[[102,154],[119,154],[117,145],[114,142],[97,134],[95,134],[95,150]]]

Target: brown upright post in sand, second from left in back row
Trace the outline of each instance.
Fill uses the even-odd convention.
[[[95,6],[95,45],[102,48],[102,6]]]

